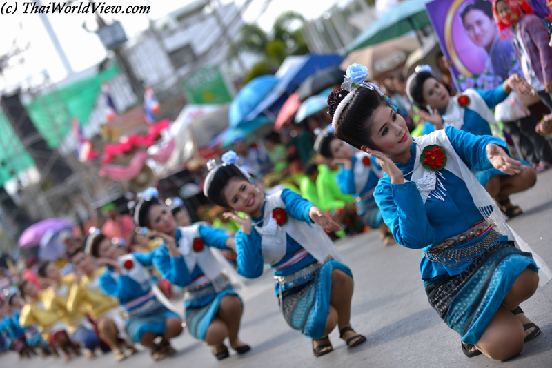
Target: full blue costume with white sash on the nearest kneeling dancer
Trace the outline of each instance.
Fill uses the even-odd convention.
[[[480,340],[524,269],[540,267],[540,285],[552,276],[471,172],[491,169],[490,143],[506,150],[500,139],[453,127],[420,136],[411,159],[396,163],[405,183],[393,185],[386,174],[374,193],[397,242],[423,249],[420,271],[429,303],[466,344]]]

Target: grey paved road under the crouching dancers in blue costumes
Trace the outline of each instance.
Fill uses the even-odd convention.
[[[523,216],[511,226],[552,265],[552,171],[539,176],[533,190],[513,196],[522,206]],[[371,232],[339,243],[346,263],[353,270],[353,327],[368,341],[347,349],[337,331],[330,335],[335,351],[320,358],[311,353],[311,341],[290,329],[279,314],[272,278],[266,273],[248,282],[241,294],[245,300],[242,340],[253,349],[244,356],[232,355],[217,362],[210,349],[187,332],[175,340],[179,353],[154,363],[146,351],[116,363],[111,354],[92,362],[76,360],[79,367],[551,367],[552,303],[539,291],[522,307],[542,334],[509,362],[496,362],[478,356],[466,358],[460,349],[460,336],[446,327],[428,305],[420,280],[420,251],[395,245],[384,248]],[[69,366],[49,358],[19,362],[15,354],[0,358],[1,367]],[[71,363],[72,365],[73,363]]]

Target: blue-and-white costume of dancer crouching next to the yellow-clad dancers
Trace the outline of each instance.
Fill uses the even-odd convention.
[[[153,293],[152,278],[146,267],[152,265],[154,252],[130,253],[117,258],[122,274],[106,267],[99,278],[99,287],[110,296],[119,299],[123,308],[126,333],[139,343],[146,332],[165,333],[165,320],[179,316],[167,309]]]

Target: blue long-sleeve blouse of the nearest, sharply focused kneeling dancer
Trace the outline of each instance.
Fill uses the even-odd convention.
[[[454,127],[446,127],[445,132],[460,159],[471,169],[487,170],[493,167],[486,154],[486,146],[491,143],[500,145],[508,152],[506,143],[493,136],[475,136]],[[412,143],[411,154],[408,162],[396,163],[405,174],[414,169],[415,143]],[[387,174],[380,179],[374,192],[375,201],[395,240],[404,247],[427,251],[483,220],[482,214],[471,199],[466,183],[446,169],[441,170],[441,173],[445,178],[442,181],[446,189],[444,201],[431,196],[427,198],[425,205],[416,183],[405,181],[404,184],[391,184],[391,178]],[[411,174],[408,174],[405,179],[408,180],[410,177]],[[477,241],[479,240],[473,239],[464,243],[462,247]],[[460,274],[470,264],[464,262],[449,267],[423,257],[420,271],[424,279],[446,274],[453,276]]]

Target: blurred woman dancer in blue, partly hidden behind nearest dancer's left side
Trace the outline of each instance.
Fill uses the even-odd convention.
[[[319,154],[326,159],[333,159],[333,164],[341,165],[335,182],[341,192],[355,195],[356,211],[364,225],[378,229],[384,245],[394,244],[395,239],[374,201],[375,186],[383,175],[380,165],[366,152],[352,154],[351,146],[333,135],[331,125],[326,128],[326,132],[319,134],[316,143]]]

